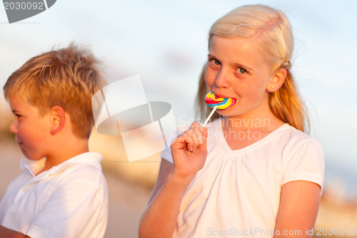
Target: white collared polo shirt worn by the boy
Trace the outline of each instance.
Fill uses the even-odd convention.
[[[87,152],[38,175],[44,159],[27,164],[6,189],[0,224],[40,237],[104,237],[108,220],[108,187],[101,154]]]

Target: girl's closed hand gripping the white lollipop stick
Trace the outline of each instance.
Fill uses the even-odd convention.
[[[188,131],[180,134],[171,143],[171,154],[174,160],[172,173],[191,182],[206,162],[207,128],[193,122]]]

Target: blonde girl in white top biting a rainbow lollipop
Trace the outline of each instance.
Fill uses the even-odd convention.
[[[201,111],[208,91],[236,104],[206,128],[194,122],[162,152],[140,237],[311,237],[324,158],[304,133],[288,19],[241,6],[211,26],[208,47]]]

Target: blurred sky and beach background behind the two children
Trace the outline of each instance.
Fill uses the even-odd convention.
[[[258,3],[282,10],[293,26],[292,71],[311,116],[311,136],[321,142],[326,156],[316,227],[354,229],[357,236],[357,1],[59,0],[14,24],[1,5],[0,94],[6,79],[27,59],[75,41],[90,46],[101,59],[109,83],[139,74],[148,101],[169,102],[176,124],[191,124],[197,119],[193,102],[208,54],[209,27],[237,6]],[[9,134],[11,121],[0,96],[0,198],[21,172],[22,155]],[[110,195],[106,237],[137,237],[159,154],[129,163],[121,137],[95,130],[90,147],[104,154]],[[322,230],[316,237],[323,237]]]

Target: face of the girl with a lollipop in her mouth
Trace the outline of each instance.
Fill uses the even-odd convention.
[[[217,110],[218,114],[238,116],[270,110],[267,89],[272,77],[256,41],[212,36],[205,69],[207,89],[220,97],[236,98],[236,104]]]

